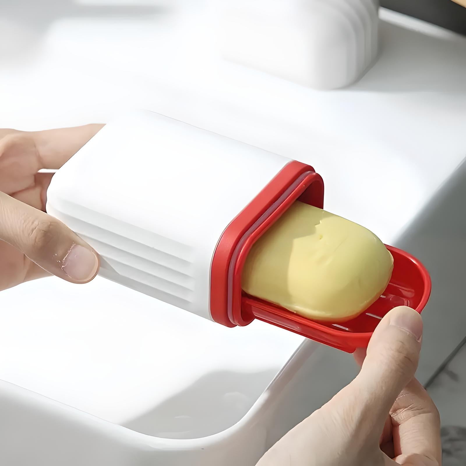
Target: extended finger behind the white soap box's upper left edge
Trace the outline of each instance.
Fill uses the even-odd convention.
[[[31,133],[37,147],[41,168],[58,170],[103,126],[103,124],[87,124],[74,128]]]

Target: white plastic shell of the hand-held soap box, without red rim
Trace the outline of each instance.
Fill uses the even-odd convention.
[[[288,162],[157,113],[130,113],[55,174],[47,211],[96,249],[102,276],[211,319],[221,234]]]

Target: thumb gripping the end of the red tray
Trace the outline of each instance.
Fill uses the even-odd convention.
[[[353,389],[368,409],[368,425],[382,430],[390,409],[418,368],[422,319],[413,309],[392,309],[372,335]]]

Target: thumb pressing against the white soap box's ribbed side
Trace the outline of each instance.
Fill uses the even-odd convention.
[[[30,260],[73,283],[92,280],[99,268],[96,252],[59,220],[0,192],[0,240]]]

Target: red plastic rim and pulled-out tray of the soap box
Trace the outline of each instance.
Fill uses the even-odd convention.
[[[233,219],[212,260],[210,304],[215,322],[234,327],[257,318],[351,353],[367,346],[378,322],[390,309],[406,305],[421,313],[431,293],[429,273],[416,258],[391,246],[387,248],[394,267],[384,294],[362,315],[347,322],[311,321],[241,290],[242,270],[254,242],[296,200],[322,208],[323,197],[321,176],[311,166],[292,161]]]

